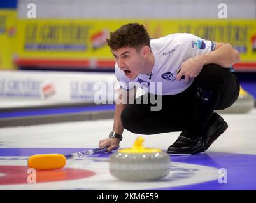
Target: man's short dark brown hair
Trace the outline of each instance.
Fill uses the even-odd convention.
[[[122,25],[115,32],[110,32],[110,38],[106,39],[108,46],[112,50],[117,50],[123,47],[131,47],[136,50],[142,46],[150,47],[150,37],[143,25],[138,23],[129,23]]]

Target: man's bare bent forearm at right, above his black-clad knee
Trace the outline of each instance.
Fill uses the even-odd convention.
[[[239,62],[240,55],[231,44],[221,44],[217,49],[203,55],[198,55],[203,60],[203,65],[215,63],[221,67],[231,67],[234,63]]]

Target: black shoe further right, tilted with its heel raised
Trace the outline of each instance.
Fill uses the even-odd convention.
[[[220,134],[224,133],[224,131],[228,128],[227,122],[225,122],[224,119],[217,113],[213,114],[211,120],[210,126],[208,129],[206,129],[206,134],[203,136],[205,150],[208,150],[208,148],[220,136]]]

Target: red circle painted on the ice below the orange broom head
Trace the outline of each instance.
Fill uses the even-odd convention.
[[[27,166],[0,166],[0,185],[24,184],[36,177],[36,183],[88,178],[96,173],[84,169],[29,171]]]

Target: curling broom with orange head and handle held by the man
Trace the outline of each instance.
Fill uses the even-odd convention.
[[[107,148],[95,148],[73,154],[36,154],[29,157],[27,166],[33,169],[61,169],[66,165],[66,159],[88,157],[94,154],[107,152]]]

